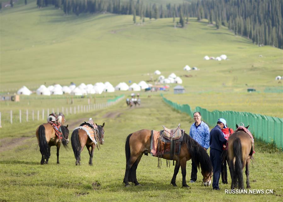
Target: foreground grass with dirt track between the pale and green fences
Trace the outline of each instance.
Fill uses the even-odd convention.
[[[220,184],[221,191],[201,186],[201,174],[190,188],[182,188],[181,174],[177,176],[177,188],[170,185],[173,166],[167,168],[165,160],[157,168],[157,158],[144,156],[137,169],[137,177],[144,186],[124,188],[124,144],[128,134],[142,129],[162,128],[165,125],[181,127],[189,131],[193,120],[180,114],[164,102],[160,96],[142,100],[142,105],[130,109],[124,101],[116,106],[92,114],[80,114],[68,118],[70,129],[88,117],[102,124],[105,122],[105,144],[94,152],[93,167],[88,166],[88,152],[82,152],[82,165],[75,166],[71,149],[60,150],[60,165],[56,165],[56,150],[51,149],[48,165],[40,165],[34,131],[38,122],[1,129],[0,199],[2,201],[164,201],[164,200],[230,200],[230,201],[280,201],[282,199],[282,153],[272,152],[256,141],[256,154],[250,166],[252,189],[273,189],[273,194],[225,194],[228,185]],[[72,131],[72,130],[70,130]],[[3,135],[5,134],[5,135]],[[3,137],[4,136],[4,137]],[[69,145],[71,147],[71,145]],[[272,152],[272,153],[269,153]],[[187,163],[187,182],[191,166]],[[245,181],[245,177],[244,177]],[[97,186],[97,184],[99,186]]]

